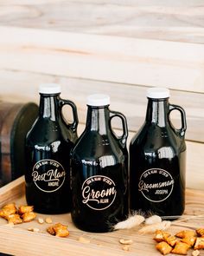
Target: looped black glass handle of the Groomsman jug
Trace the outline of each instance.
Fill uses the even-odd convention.
[[[171,123],[171,121],[169,120],[170,127],[175,130],[176,134],[178,134],[181,137],[183,137],[185,135],[185,132],[186,132],[186,129],[187,129],[187,121],[186,121],[185,110],[182,107],[180,107],[180,106],[169,104],[169,114],[173,110],[178,110],[180,112],[181,118],[182,118],[182,128],[180,128],[180,129],[175,128],[173,126],[173,124]]]

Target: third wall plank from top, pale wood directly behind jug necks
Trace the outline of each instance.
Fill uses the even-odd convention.
[[[10,101],[35,101],[38,103],[38,85],[41,82],[58,82],[61,84],[61,96],[73,100],[78,106],[80,122],[86,122],[86,96],[92,93],[105,93],[111,96],[111,108],[124,113],[128,120],[129,130],[134,132],[143,124],[146,113],[146,89],[148,87],[116,83],[101,82],[87,79],[70,78],[61,75],[44,75],[35,72],[0,70],[2,79],[0,87],[3,89],[3,99]],[[22,85],[25,84],[27,87]],[[13,86],[10,86],[13,85]],[[17,90],[14,90],[17,87]],[[186,138],[188,141],[204,141],[204,112],[201,111],[204,94],[170,90],[170,102],[180,104],[185,108],[188,119]],[[175,125],[180,123],[180,115],[174,115]],[[115,123],[119,128],[120,124]],[[195,133],[196,131],[196,133]]]

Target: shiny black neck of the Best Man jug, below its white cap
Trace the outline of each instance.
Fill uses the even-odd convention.
[[[48,118],[51,121],[56,121],[59,117],[59,97],[60,94],[44,95],[40,97],[40,117]]]

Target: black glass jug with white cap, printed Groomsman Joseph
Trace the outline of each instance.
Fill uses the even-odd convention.
[[[183,108],[169,103],[169,89],[149,89],[147,97],[146,120],[130,144],[131,211],[181,215],[185,207],[186,115]],[[181,114],[181,128],[170,121],[173,110]]]

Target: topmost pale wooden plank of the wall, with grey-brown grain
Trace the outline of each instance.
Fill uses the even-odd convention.
[[[93,35],[204,43],[204,2],[6,0],[1,24]]]

